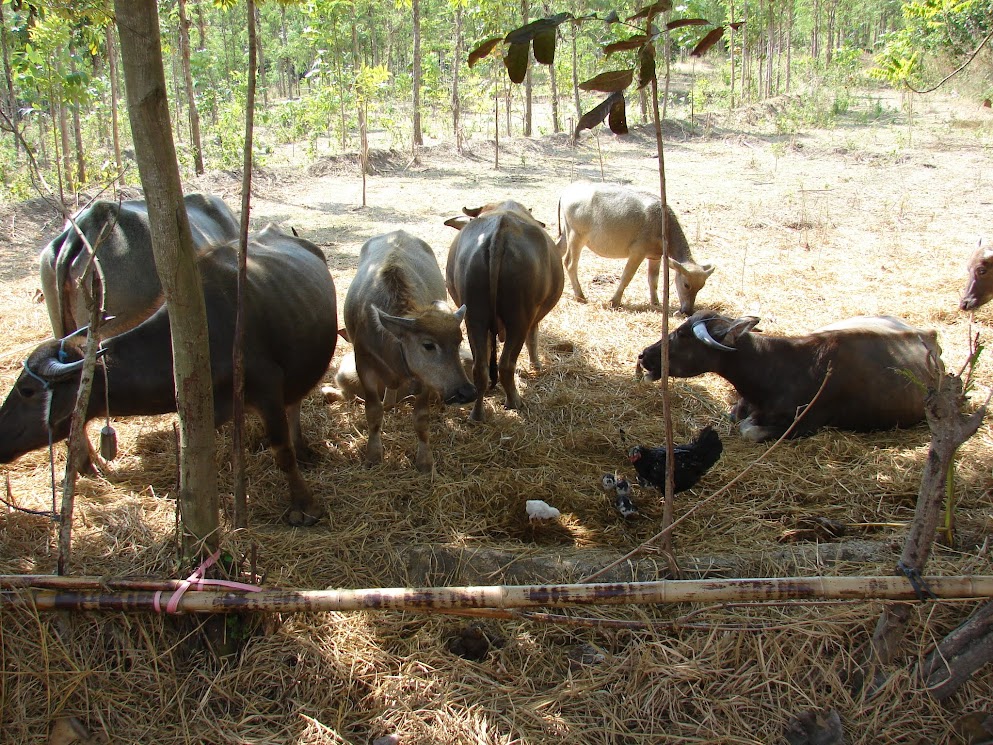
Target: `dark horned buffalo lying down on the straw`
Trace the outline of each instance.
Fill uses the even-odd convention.
[[[928,379],[927,340],[934,331],[889,316],[860,316],[807,336],[753,333],[754,316],[728,318],[700,311],[669,335],[669,374],[690,378],[714,372],[734,386],[732,410],[745,439],[761,442],[783,435],[813,400],[830,368],[817,403],[792,436],[821,427],[868,432],[909,427],[924,419],[924,392],[908,378]],[[638,364],[648,378],[662,377],[661,340],[645,349]]]

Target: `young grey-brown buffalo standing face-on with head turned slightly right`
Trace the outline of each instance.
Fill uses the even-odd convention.
[[[428,404],[432,394],[446,404],[468,403],[476,389],[459,361],[465,307],[454,313],[445,302],[445,280],[431,247],[402,230],[370,238],[345,294],[345,328],[362,384],[369,444],[366,465],[383,460],[383,396],[412,386],[415,465],[430,472]]]

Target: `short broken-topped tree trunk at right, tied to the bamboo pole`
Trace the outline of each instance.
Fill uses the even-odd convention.
[[[924,411],[931,429],[931,447],[921,476],[914,520],[898,564],[900,570],[918,574],[924,572],[934,544],[934,533],[945,502],[945,485],[955,452],[975,434],[986,414],[985,406],[971,415],[961,413],[965,399],[962,379],[956,375],[945,375],[940,353],[930,342],[927,345],[933,367],[931,380],[927,381]],[[910,607],[906,603],[887,606],[876,624],[872,648],[876,659],[882,664],[892,662],[897,655],[898,644],[910,618]]]

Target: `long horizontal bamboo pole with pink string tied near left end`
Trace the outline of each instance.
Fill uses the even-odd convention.
[[[936,598],[993,597],[993,576],[926,577]],[[0,587],[3,582],[0,581]],[[768,600],[917,600],[903,577],[785,577],[725,580],[663,580],[572,585],[385,588],[367,590],[193,590],[174,598],[171,591],[80,591],[24,587],[0,591],[0,612],[18,607],[38,611],[165,612],[172,599],[177,613],[296,613],[355,610],[434,610],[451,608],[534,608],[567,605],[657,604]]]

